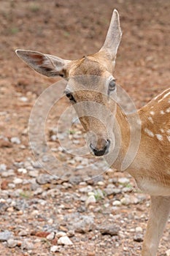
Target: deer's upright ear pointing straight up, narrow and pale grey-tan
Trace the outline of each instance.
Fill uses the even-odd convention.
[[[106,52],[112,61],[115,61],[116,59],[117,49],[120,44],[121,37],[122,31],[120,29],[119,13],[117,10],[114,10],[109,24],[109,29],[107,31],[107,37],[103,47],[100,50]]]

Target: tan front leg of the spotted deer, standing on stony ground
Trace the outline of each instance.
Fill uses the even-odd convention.
[[[151,196],[150,218],[142,246],[142,256],[155,256],[169,218],[170,197]]]

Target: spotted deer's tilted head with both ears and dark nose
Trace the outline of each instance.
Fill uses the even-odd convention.
[[[88,133],[88,146],[96,156],[107,154],[115,146],[112,129],[116,105],[110,98],[116,94],[113,72],[121,35],[119,15],[114,10],[107,37],[98,53],[70,61],[31,50],[16,50],[36,72],[68,80],[66,97],[74,105]]]

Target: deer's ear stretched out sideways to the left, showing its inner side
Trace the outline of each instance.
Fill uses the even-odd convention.
[[[66,78],[67,76],[67,67],[71,61],[32,50],[15,50],[15,53],[29,67],[42,75],[46,75],[47,77],[61,76],[62,78]]]

